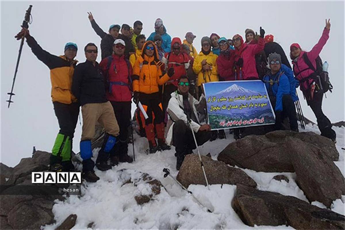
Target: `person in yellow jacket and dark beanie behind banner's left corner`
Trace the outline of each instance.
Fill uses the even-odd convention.
[[[198,96],[201,96],[201,84],[207,82],[218,82],[217,74],[217,55],[211,51],[211,40],[209,37],[201,39],[201,51],[194,59],[193,71],[198,75],[197,86],[199,87]]]

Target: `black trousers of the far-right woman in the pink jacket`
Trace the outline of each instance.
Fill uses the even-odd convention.
[[[323,99],[323,92],[319,90],[317,93],[314,92],[313,100],[308,100],[308,105],[312,108],[317,121],[317,126],[321,131],[321,135],[327,132],[327,130],[331,129],[332,123],[329,121],[328,117],[322,111],[322,99]]]

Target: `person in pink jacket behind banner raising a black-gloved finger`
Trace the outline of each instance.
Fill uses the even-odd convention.
[[[265,30],[260,27],[260,37],[257,44],[246,44],[240,35],[233,37],[235,46],[235,80],[256,80],[259,75],[256,71],[255,55],[264,50]]]

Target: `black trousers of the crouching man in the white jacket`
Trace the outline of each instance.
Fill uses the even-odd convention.
[[[194,134],[198,146],[203,145],[211,137],[211,131],[199,131]],[[185,155],[196,148],[192,131],[182,120],[175,122],[172,127],[172,140],[177,155]]]

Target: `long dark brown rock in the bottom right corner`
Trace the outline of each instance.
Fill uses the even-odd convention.
[[[255,225],[288,225],[295,229],[344,229],[345,216],[295,197],[237,185],[232,207],[241,220]]]

